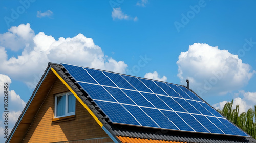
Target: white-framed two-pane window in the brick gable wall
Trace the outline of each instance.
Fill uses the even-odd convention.
[[[55,118],[75,115],[75,111],[76,98],[72,93],[68,92],[55,96]]]

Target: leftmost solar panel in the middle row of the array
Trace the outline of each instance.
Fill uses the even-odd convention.
[[[88,93],[92,99],[117,102],[106,90],[100,85],[78,82],[80,86]]]

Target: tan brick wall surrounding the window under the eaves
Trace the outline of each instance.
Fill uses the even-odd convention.
[[[88,142],[86,139],[98,142],[113,142],[94,118],[76,100],[76,115],[72,120],[52,121],[54,118],[54,95],[69,91],[59,79],[55,79],[46,100],[36,114],[33,123],[29,127],[23,142]],[[32,109],[33,110],[33,109]],[[14,141],[12,141],[14,142]],[[18,141],[20,142],[20,141]]]

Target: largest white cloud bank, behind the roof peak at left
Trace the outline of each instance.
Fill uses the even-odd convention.
[[[33,31],[29,24],[25,26],[29,27],[25,33]],[[24,25],[15,28],[19,29],[20,27],[24,27]],[[2,35],[5,35],[5,33]],[[23,35],[20,37],[23,38]],[[27,36],[25,35],[25,37]],[[8,37],[5,38],[8,39]],[[95,45],[92,38],[87,38],[82,34],[73,38],[65,39],[61,37],[55,40],[54,37],[40,32],[30,38],[33,41],[33,44],[30,45],[33,46],[26,47],[17,58],[8,58],[5,46],[0,46],[0,73],[24,81],[31,88],[36,86],[49,61],[99,68],[118,73],[125,73],[127,68],[123,61],[116,61],[104,55],[101,47]],[[2,45],[2,42],[0,45]]]

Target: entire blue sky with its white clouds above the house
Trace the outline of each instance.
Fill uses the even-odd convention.
[[[215,108],[235,99],[246,111],[256,104],[255,3],[0,1],[0,81],[10,83],[11,125],[48,62],[182,85],[188,78]]]

